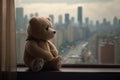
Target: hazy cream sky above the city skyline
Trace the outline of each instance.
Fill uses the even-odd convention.
[[[77,20],[77,7],[83,7],[83,21],[85,17],[91,20],[107,18],[112,20],[114,16],[120,19],[120,0],[16,0],[16,7],[23,7],[24,14],[38,12],[39,16],[47,17],[49,14],[64,18],[65,13]]]

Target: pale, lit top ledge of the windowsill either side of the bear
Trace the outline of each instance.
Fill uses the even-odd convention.
[[[18,72],[27,72],[27,67],[18,67]],[[120,72],[120,68],[61,68],[60,72]]]

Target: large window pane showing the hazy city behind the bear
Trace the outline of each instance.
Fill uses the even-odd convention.
[[[28,21],[51,17],[63,64],[120,64],[120,0],[16,0],[17,63]]]

